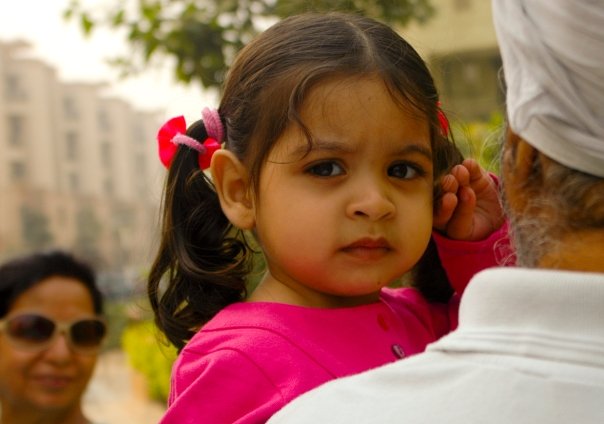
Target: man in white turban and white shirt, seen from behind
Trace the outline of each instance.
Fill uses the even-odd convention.
[[[477,274],[425,353],[270,423],[604,423],[604,1],[493,0],[493,16],[519,267]]]

